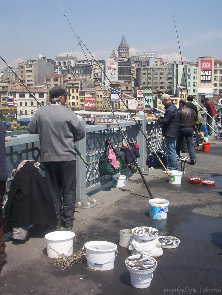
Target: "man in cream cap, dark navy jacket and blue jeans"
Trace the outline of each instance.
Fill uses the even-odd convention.
[[[162,94],[160,100],[166,109],[163,118],[153,118],[153,121],[158,121],[162,127],[162,135],[165,136],[166,153],[168,155],[168,171],[177,170],[177,155],[175,150],[176,139],[179,135],[180,118],[178,110],[171,101],[169,94]],[[163,171],[166,173],[166,171]]]

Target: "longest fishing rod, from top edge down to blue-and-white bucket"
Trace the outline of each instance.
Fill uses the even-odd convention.
[[[59,2],[59,0],[58,0],[58,2]],[[73,27],[72,27],[72,25],[71,25],[71,23],[70,23],[70,21],[69,21],[69,18],[67,17],[67,15],[66,15],[66,13],[65,13],[65,11],[64,11],[64,9],[63,9],[63,7],[62,7],[62,5],[61,5],[60,2],[59,2],[59,4],[60,4],[60,6],[61,6],[61,8],[62,8],[62,10],[63,10],[63,12],[64,12],[64,14],[65,14],[66,19],[68,20],[68,22],[69,22],[69,24],[70,24],[70,26],[71,26],[72,31],[74,32],[74,34],[75,34],[75,36],[76,36],[77,41],[79,42],[79,45],[80,45],[80,47],[81,47],[81,49],[82,49],[84,55],[86,56],[86,59],[87,59],[89,65],[90,65],[90,67],[91,67],[91,70],[93,71],[93,73],[94,73],[94,75],[95,75],[95,77],[96,77],[95,71],[94,71],[94,69],[93,69],[91,63],[89,62],[89,59],[88,59],[88,57],[87,57],[87,55],[86,55],[86,53],[85,53],[84,48],[83,48],[82,45],[81,45],[81,42],[80,42],[81,40],[80,40],[79,37],[76,35],[76,32],[74,31],[74,29],[73,29]],[[89,50],[88,50],[88,52],[89,52]],[[104,96],[105,96],[105,98],[106,98],[106,101],[107,101],[107,103],[108,103],[108,105],[109,105],[109,107],[110,107],[110,109],[111,109],[111,111],[112,111],[112,113],[113,113],[113,117],[115,118],[116,123],[118,124],[118,128],[119,128],[120,132],[122,133],[123,138],[124,138],[125,141],[126,141],[126,145],[127,145],[128,149],[129,149],[129,151],[130,151],[130,153],[131,153],[131,156],[132,156],[132,158],[133,158],[133,161],[134,161],[134,163],[135,163],[135,165],[136,165],[136,167],[137,167],[137,169],[138,169],[138,171],[139,171],[139,173],[140,173],[140,176],[141,176],[141,178],[142,178],[142,180],[143,180],[143,183],[144,183],[144,185],[146,186],[146,189],[147,189],[147,191],[148,191],[148,193],[149,193],[149,195],[150,195],[150,198],[153,199],[152,193],[151,193],[151,191],[150,191],[150,189],[149,189],[149,187],[148,187],[148,185],[147,185],[147,183],[146,183],[146,180],[145,180],[145,178],[144,178],[144,176],[143,176],[143,173],[142,173],[142,171],[141,171],[141,169],[140,169],[140,167],[139,167],[139,165],[138,165],[138,163],[137,163],[136,157],[135,157],[135,155],[133,154],[133,152],[132,152],[132,150],[131,150],[131,148],[130,148],[130,146],[129,146],[128,140],[126,139],[126,136],[125,136],[125,134],[124,134],[122,128],[120,127],[120,125],[119,125],[119,123],[118,123],[118,120],[117,120],[117,118],[116,118],[116,115],[115,115],[115,113],[114,113],[114,111],[113,111],[113,109],[112,109],[112,107],[111,107],[111,105],[110,105],[110,103],[109,103],[109,100],[108,100],[107,97],[106,97],[106,94],[105,94],[105,92],[104,92],[104,89],[103,89],[103,87],[101,86],[101,83],[100,83],[99,81],[98,81],[98,83],[99,83],[99,86],[100,86],[100,88],[101,88],[101,90],[102,90],[102,92],[103,92],[103,94],[104,94]]]

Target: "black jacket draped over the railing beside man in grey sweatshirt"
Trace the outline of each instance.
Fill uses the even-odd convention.
[[[4,213],[4,232],[33,224],[57,224],[51,192],[39,170],[30,162],[11,181]]]

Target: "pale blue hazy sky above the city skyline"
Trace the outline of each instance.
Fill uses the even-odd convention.
[[[60,0],[69,21],[96,59],[118,48],[123,32],[136,51],[156,52],[170,62],[222,60],[221,0]],[[39,54],[85,59],[58,0],[1,0],[0,55],[14,68]],[[176,22],[176,28],[173,20]],[[178,33],[178,40],[176,35]],[[87,52],[87,50],[86,50]],[[167,58],[166,58],[167,55]],[[88,56],[90,57],[89,53]],[[0,71],[6,64],[0,59]]]

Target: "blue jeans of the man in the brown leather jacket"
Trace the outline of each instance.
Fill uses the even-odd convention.
[[[190,155],[190,160],[196,160],[196,155],[195,155],[195,148],[193,146],[193,130],[180,130],[179,136],[176,140],[176,153],[180,157],[180,150],[181,150],[181,145],[183,142],[183,138],[185,137],[186,139],[186,144],[188,148],[188,152]]]

